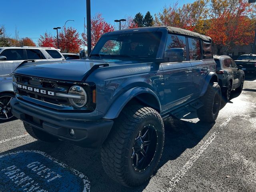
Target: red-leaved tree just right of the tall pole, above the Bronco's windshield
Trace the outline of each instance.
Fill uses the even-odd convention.
[[[104,33],[111,31],[114,31],[114,27],[104,21],[101,13],[97,13],[91,20],[92,48],[94,48]],[[87,46],[87,33],[82,33],[82,38],[84,39],[85,45]]]

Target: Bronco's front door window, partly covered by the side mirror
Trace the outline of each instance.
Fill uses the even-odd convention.
[[[183,48],[184,49],[183,58],[184,58],[184,61],[186,61],[186,37],[168,34],[164,54],[166,54],[166,50],[172,49],[172,48]]]

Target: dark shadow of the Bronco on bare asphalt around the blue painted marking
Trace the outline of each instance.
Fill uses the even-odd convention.
[[[204,138],[214,124],[187,122],[168,118],[165,125],[165,145],[158,169],[169,160],[178,158],[187,148],[193,148]],[[45,143],[34,141],[1,154],[20,150],[38,150],[85,174],[90,181],[90,191],[142,192],[148,182],[138,188],[124,187],[111,180],[101,164],[100,149],[87,149],[69,142]],[[22,160],[20,160],[22,163]],[[43,162],[42,162],[43,164]]]

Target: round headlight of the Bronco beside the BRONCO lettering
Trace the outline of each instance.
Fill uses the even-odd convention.
[[[80,86],[72,86],[68,94],[73,98],[68,98],[70,104],[75,108],[82,108],[87,102],[87,95],[85,90]]]

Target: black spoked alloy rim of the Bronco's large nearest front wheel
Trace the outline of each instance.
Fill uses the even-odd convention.
[[[132,167],[136,172],[145,171],[150,166],[156,154],[157,145],[156,127],[152,124],[145,125],[135,138],[132,148]]]

